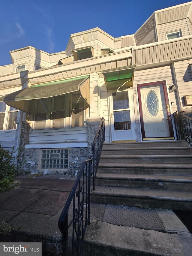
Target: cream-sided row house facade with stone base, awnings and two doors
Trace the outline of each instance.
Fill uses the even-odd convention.
[[[107,143],[176,140],[169,116],[192,108],[192,2],[155,11],[134,35],[95,28],[60,53],[10,55],[0,67],[0,141],[24,149],[24,170],[76,175],[101,117]]]

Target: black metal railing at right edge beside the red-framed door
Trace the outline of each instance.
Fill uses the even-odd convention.
[[[192,118],[176,111],[173,113],[177,140],[186,140],[192,146]]]

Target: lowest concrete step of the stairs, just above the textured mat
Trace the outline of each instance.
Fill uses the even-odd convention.
[[[92,203],[118,204],[142,208],[192,210],[191,191],[95,186]]]

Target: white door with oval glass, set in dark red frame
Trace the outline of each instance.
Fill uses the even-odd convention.
[[[173,139],[165,81],[140,84],[137,88],[143,140]]]

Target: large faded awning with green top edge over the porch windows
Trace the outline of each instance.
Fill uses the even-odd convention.
[[[50,98],[76,91],[80,91],[90,105],[89,76],[33,85],[1,97],[0,102],[29,113],[31,101],[35,99]]]

